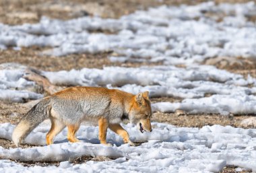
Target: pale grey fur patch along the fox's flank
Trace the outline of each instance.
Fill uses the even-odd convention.
[[[74,99],[59,98],[53,96],[51,98],[52,109],[57,112],[59,118],[66,125],[81,123],[83,120],[95,120],[100,116],[104,116],[110,123],[120,123],[123,116],[123,105],[121,103],[113,103],[109,96],[100,96],[100,100],[79,97]]]

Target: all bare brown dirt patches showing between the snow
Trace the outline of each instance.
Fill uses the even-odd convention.
[[[121,15],[132,13],[139,9],[148,9],[148,7],[156,7],[158,5],[180,5],[180,4],[196,4],[203,0],[0,0],[0,23],[9,25],[18,25],[25,23],[36,23],[40,21],[42,16],[48,18],[56,18],[59,20],[69,20],[79,18],[86,15],[98,15],[102,18],[119,18]],[[215,0],[220,2],[247,2],[247,0]],[[255,20],[252,18],[251,20]],[[161,63],[112,63],[108,60],[108,56],[113,53],[80,54],[67,55],[65,57],[46,57],[40,55],[42,49],[47,48],[22,48],[17,51],[11,48],[0,50],[1,63],[21,63],[28,67],[40,69],[43,71],[60,71],[70,69],[99,68],[105,66],[122,66],[122,67],[139,67],[141,65],[162,65]],[[256,62],[253,59],[234,59],[232,57],[217,57],[203,62],[207,65],[215,65],[220,69],[226,69],[232,73],[239,73],[247,77],[251,75],[256,77]],[[181,98],[152,98],[152,102],[180,102]],[[20,118],[28,111],[28,107],[22,103],[3,102],[0,101],[0,123],[11,123],[16,125]],[[231,125],[233,127],[241,127],[241,120],[251,116],[220,116],[218,114],[164,114],[155,112],[152,116],[153,121],[160,123],[170,123],[178,127],[198,127],[204,125]],[[11,141],[0,139],[0,145],[5,148],[15,147]],[[22,145],[22,147],[33,147],[32,145]],[[104,161],[109,158],[76,158],[71,162],[79,164],[88,160]],[[59,163],[20,163],[24,166],[48,166]],[[235,172],[235,167],[227,166],[222,172]],[[249,171],[247,171],[249,172]]]

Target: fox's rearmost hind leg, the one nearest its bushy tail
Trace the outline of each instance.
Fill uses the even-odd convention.
[[[47,145],[53,144],[53,139],[55,138],[55,136],[58,135],[65,127],[61,120],[58,120],[56,118],[51,118],[51,123],[51,129],[46,135]]]

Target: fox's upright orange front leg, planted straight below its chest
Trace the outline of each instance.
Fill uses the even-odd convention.
[[[111,143],[106,143],[106,131],[108,129],[108,120],[106,118],[100,118],[98,120],[98,138],[100,143],[108,146],[112,146]]]

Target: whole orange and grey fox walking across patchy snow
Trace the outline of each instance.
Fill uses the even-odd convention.
[[[97,120],[100,143],[110,145],[106,143],[106,131],[109,128],[120,135],[124,143],[135,146],[119,123],[129,119],[143,133],[152,131],[151,116],[148,92],[133,95],[108,88],[72,87],[43,98],[31,108],[15,127],[12,140],[18,147],[34,128],[50,118],[51,129],[46,135],[47,145],[52,144],[54,137],[66,126],[67,139],[78,142],[75,133],[80,124],[85,120]]]

